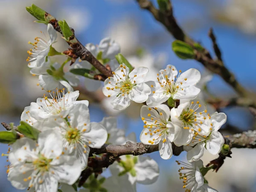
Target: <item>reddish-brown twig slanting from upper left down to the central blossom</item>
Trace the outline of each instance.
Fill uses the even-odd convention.
[[[49,13],[45,14],[45,17],[49,17]],[[54,29],[58,32],[61,32],[61,28],[58,25],[58,20],[56,20],[55,18],[50,20],[49,23],[52,24],[52,26],[54,27]],[[75,37],[75,31],[74,29],[71,29],[73,32],[73,39],[76,39]],[[63,34],[62,34],[63,35]],[[77,40],[77,39],[76,39]],[[69,49],[70,52],[72,52],[73,55],[76,55],[75,58],[80,58],[83,61],[88,61],[90,64],[93,65],[93,67],[95,67],[97,70],[99,70],[100,73],[102,73],[104,76],[106,77],[111,77],[113,76],[112,71],[108,70],[104,65],[102,65],[94,56],[93,54],[86,49],[83,44],[80,43],[79,40],[77,40],[75,43],[73,43],[73,41],[68,41],[67,42],[70,47],[72,47],[72,49]],[[74,62],[74,61],[73,61]]]

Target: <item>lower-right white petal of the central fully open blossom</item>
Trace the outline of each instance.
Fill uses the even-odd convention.
[[[147,84],[141,83],[137,84],[135,87],[132,88],[130,91],[130,98],[134,102],[143,103],[148,99],[148,95],[151,93],[150,87]]]

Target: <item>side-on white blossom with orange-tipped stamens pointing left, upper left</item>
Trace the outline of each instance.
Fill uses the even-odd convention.
[[[31,43],[34,46],[34,49],[28,50],[29,57],[26,61],[29,61],[29,67],[40,67],[46,60],[46,57],[52,47],[52,44],[56,41],[57,33],[53,28],[52,24],[48,24],[47,32],[49,34],[49,41],[45,41],[42,38],[35,38],[35,43]]]

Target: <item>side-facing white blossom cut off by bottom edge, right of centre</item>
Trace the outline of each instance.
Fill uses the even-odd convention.
[[[179,169],[180,179],[183,180],[183,188],[186,188],[186,192],[199,192],[204,185],[204,177],[200,172],[203,168],[203,161],[199,160],[192,163],[184,163],[176,161],[178,165],[181,165]]]

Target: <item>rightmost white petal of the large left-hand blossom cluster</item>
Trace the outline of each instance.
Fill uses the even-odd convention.
[[[91,122],[89,125],[90,131],[84,132],[83,136],[86,137],[90,147],[101,148],[107,141],[108,133],[106,129],[99,123]]]

